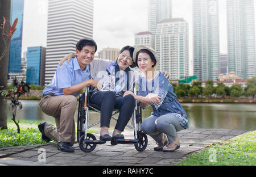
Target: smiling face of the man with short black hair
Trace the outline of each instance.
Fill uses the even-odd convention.
[[[85,45],[81,51],[76,49],[77,61],[82,70],[85,69],[86,65],[89,65],[92,62],[95,54],[95,47],[91,45]]]

